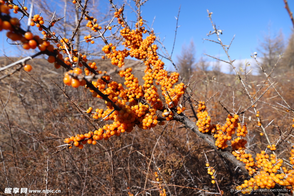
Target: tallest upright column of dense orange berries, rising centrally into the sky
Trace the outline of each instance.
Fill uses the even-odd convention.
[[[118,18],[118,23],[124,27],[123,21],[119,18],[119,14],[121,14],[121,9],[120,11],[115,13],[115,16]],[[145,65],[147,66],[146,69],[144,70],[145,76],[143,79],[145,80],[145,83],[143,84],[143,87],[145,88],[146,91],[155,91],[157,93],[157,90],[155,90],[155,86],[153,87],[153,79],[157,79],[156,85],[161,85],[161,90],[163,91],[163,95],[165,96],[166,103],[168,104],[169,107],[175,107],[178,104],[178,101],[181,97],[182,94],[184,94],[185,87],[183,83],[176,85],[175,88],[172,88],[173,84],[178,82],[178,73],[171,73],[171,76],[168,76],[167,71],[163,69],[164,63],[158,59],[158,55],[156,53],[156,50],[158,47],[156,45],[151,45],[154,43],[156,36],[151,33],[149,36],[147,36],[145,39],[143,39],[143,33],[146,33],[147,31],[144,30],[144,27],[141,27],[143,25],[143,20],[140,19],[139,23],[136,24],[136,29],[128,29],[128,28],[123,28],[120,30],[121,36],[125,38],[124,42],[122,43],[125,47],[130,48],[130,50],[125,50],[125,51],[118,51],[122,53],[122,55],[128,56],[128,54],[131,57],[135,57],[137,59],[146,59]],[[140,28],[139,28],[140,26]],[[108,47],[108,46],[107,46]],[[108,48],[107,48],[108,49]],[[109,58],[111,58],[111,52],[109,52],[109,49],[106,50],[104,49],[104,53],[107,53],[107,56],[109,55]],[[118,60],[118,59],[116,59]],[[149,88],[149,89],[146,89]],[[153,92],[154,92],[153,91]],[[168,91],[167,95],[165,92]],[[152,93],[153,94],[153,93]],[[146,94],[147,95],[147,94]],[[148,93],[148,95],[151,95]],[[149,98],[149,96],[145,96],[148,99],[150,105],[157,104],[157,108],[162,107],[161,100],[159,100],[159,96],[157,97],[156,94],[153,94],[155,97]],[[156,100],[157,99],[157,100]],[[153,102],[153,103],[152,103]],[[158,102],[158,103],[156,103]],[[157,109],[156,108],[156,109]]]

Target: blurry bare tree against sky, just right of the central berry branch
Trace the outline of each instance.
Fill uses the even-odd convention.
[[[191,76],[196,64],[196,50],[193,40],[187,46],[185,43],[182,46],[181,55],[177,55],[177,64],[180,68],[181,76]],[[188,80],[188,78],[186,78]]]

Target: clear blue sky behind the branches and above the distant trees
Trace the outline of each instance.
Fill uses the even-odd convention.
[[[51,2],[54,3],[55,0]],[[122,1],[116,1],[116,4],[122,5]],[[290,9],[294,11],[294,2],[290,0]],[[62,4],[62,1],[59,1]],[[53,4],[54,5],[54,4]],[[230,56],[233,59],[250,58],[251,53],[256,51],[258,41],[262,40],[264,34],[270,31],[277,34],[282,31],[285,40],[292,32],[292,23],[283,0],[260,0],[260,1],[175,1],[175,0],[149,0],[141,8],[143,19],[149,21],[151,26],[154,16],[155,21],[153,29],[161,39],[165,37],[164,44],[169,51],[172,49],[174,33],[176,28],[175,16],[178,14],[179,6],[181,12],[178,21],[178,32],[173,52],[173,60],[176,61],[176,55],[181,53],[183,43],[188,44],[193,39],[196,48],[196,55],[199,58],[203,53],[211,56],[225,58],[220,46],[208,41],[203,42],[203,38],[208,38],[206,34],[212,30],[206,9],[213,12],[212,18],[220,29],[224,30],[221,35],[222,41],[229,43],[235,34],[235,40],[230,48]],[[100,0],[99,6],[109,6],[108,0]],[[134,13],[127,8],[128,20],[134,20]],[[33,27],[36,28],[36,27]],[[0,33],[1,46],[7,51],[11,51],[15,46],[9,46],[6,38],[3,38],[3,32]],[[211,36],[209,38],[214,38]],[[98,41],[98,40],[97,40]],[[101,40],[100,40],[101,41]],[[3,47],[0,50],[3,54]],[[11,52],[13,56],[14,52]],[[212,59],[208,58],[208,61]]]

